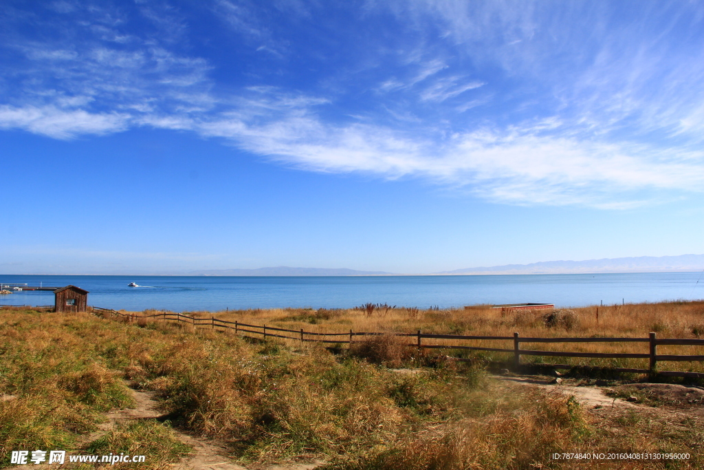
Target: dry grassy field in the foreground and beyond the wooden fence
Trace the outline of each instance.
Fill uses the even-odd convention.
[[[667,321],[671,334],[691,338],[688,322],[701,321],[703,312],[702,304],[643,308],[645,314],[637,313],[636,306],[621,309],[630,322],[617,320],[614,310],[600,324],[611,328],[608,334],[642,335],[654,324],[648,321],[667,321],[662,311],[671,309],[681,314],[679,323]],[[588,310],[577,313],[579,325],[572,325],[572,334],[598,331]],[[229,315],[287,328],[476,334],[505,334],[523,321],[482,309]],[[640,324],[634,326],[636,318]],[[547,328],[537,319],[525,325],[521,331],[526,335],[565,333],[564,326]],[[482,364],[448,363],[433,354],[408,350],[393,337],[331,352],[311,343],[240,338],[165,322],[121,323],[89,314],[4,309],[0,465],[10,466],[12,450],[62,449],[145,454],[139,468],[168,468],[188,452],[174,428],[221,443],[249,468],[322,459],[324,468],[349,470],[576,469],[584,466],[555,461],[551,454],[610,451],[689,452],[692,458],[604,462],[600,468],[704,465],[698,456],[704,435],[696,431],[704,423],[697,416],[596,416],[560,392],[507,388],[487,376]],[[110,409],[132,405],[132,388],[156,392],[165,419],[92,434]],[[120,466],[136,468],[115,465]]]

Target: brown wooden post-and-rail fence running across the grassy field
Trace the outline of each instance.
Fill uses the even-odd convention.
[[[176,321],[177,323],[189,323],[195,328],[210,328],[210,329],[230,329],[236,334],[253,335],[255,338],[284,338],[288,340],[298,340],[301,342],[322,342],[329,344],[351,344],[355,337],[360,336],[375,336],[384,335],[387,333],[365,333],[349,330],[349,333],[316,333],[313,331],[287,330],[285,328],[276,328],[266,325],[249,325],[240,323],[239,321],[225,321],[216,319],[211,316],[209,319],[199,319],[193,316],[184,314],[163,312],[153,315],[136,315],[122,314],[119,311],[111,309],[101,309],[100,307],[92,307],[94,314],[110,314],[120,316],[127,321],[138,321],[139,319],[155,319],[164,321]],[[293,333],[287,335],[282,333]],[[650,333],[648,338],[529,338],[521,337],[518,333],[513,333],[513,336],[467,336],[467,335],[440,335],[435,333],[422,333],[417,330],[416,333],[394,333],[396,336],[405,336],[414,338],[415,341],[409,343],[409,346],[415,346],[424,349],[453,349],[453,350],[471,350],[471,351],[489,351],[489,352],[507,352],[513,354],[513,366],[518,369],[521,366],[521,356],[543,356],[543,357],[586,357],[595,359],[648,359],[649,369],[628,369],[622,367],[608,368],[615,372],[628,373],[649,373],[659,374],[661,376],[672,377],[696,377],[704,378],[704,373],[700,372],[683,372],[683,371],[658,371],[658,361],[704,361],[704,355],[697,354],[658,354],[658,346],[662,345],[689,345],[689,346],[704,346],[704,340],[684,340],[684,339],[658,339],[655,333]],[[334,338],[339,339],[334,339]],[[489,341],[510,341],[513,342],[511,348],[497,347],[478,347],[478,346],[463,346],[463,345],[429,345],[424,344],[423,339],[442,339],[442,340],[489,340]],[[541,351],[541,350],[522,350],[520,345],[522,342],[646,342],[648,343],[647,353],[614,353],[614,352],[567,352],[567,351]],[[462,358],[450,358],[454,360],[471,360]],[[543,364],[541,364],[543,365]],[[544,364],[548,366],[548,364]],[[555,369],[572,369],[573,366],[566,364],[549,364]]]

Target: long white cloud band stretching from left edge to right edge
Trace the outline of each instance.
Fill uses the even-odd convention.
[[[704,188],[704,152],[587,141],[562,132],[567,126],[558,118],[503,131],[455,132],[438,141],[373,123],[325,123],[315,109],[326,99],[269,87],[251,92],[254,96],[217,115],[1,106],[0,128],[56,138],[117,132],[130,125],[191,130],[306,171],[425,178],[509,204],[623,209],[653,199],[643,191]]]

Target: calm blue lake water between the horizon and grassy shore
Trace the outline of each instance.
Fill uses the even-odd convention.
[[[0,283],[77,285],[88,304],[141,311],[283,307],[349,308],[545,302],[558,307],[703,299],[701,273],[533,274],[512,276],[0,276]],[[144,287],[127,287],[134,282]],[[53,292],[15,292],[0,304],[54,304]]]

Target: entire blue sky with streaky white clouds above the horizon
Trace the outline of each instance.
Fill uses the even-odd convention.
[[[0,272],[703,253],[696,1],[4,1]]]

